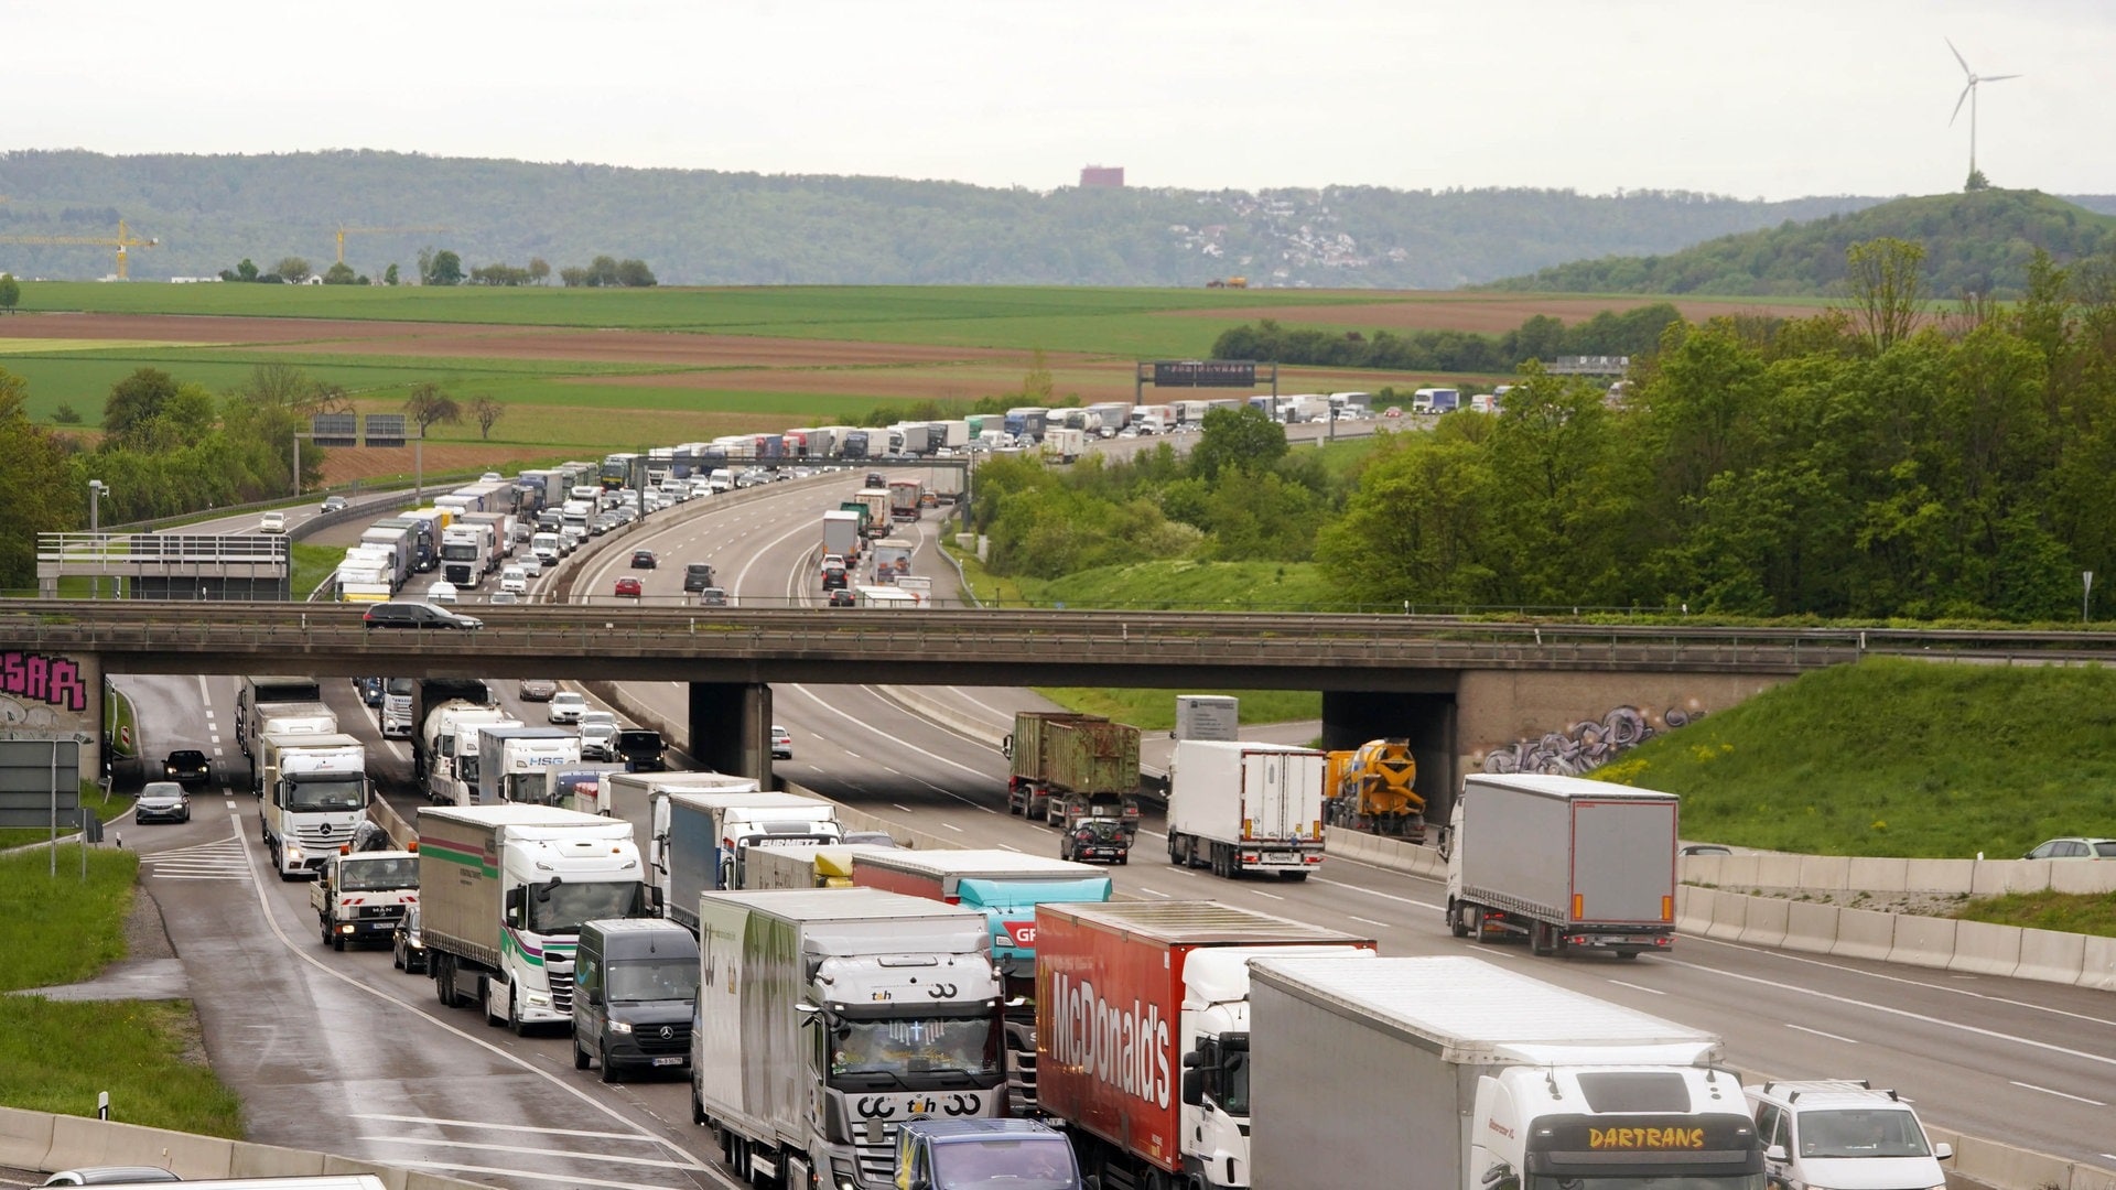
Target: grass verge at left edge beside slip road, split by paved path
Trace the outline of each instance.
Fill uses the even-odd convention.
[[[125,957],[125,917],[138,858],[95,849],[80,879],[80,851],[0,855],[0,991],[93,978]],[[93,1116],[110,1093],[110,1118],[216,1137],[241,1135],[241,1103],[199,1052],[188,1002],[53,1002],[8,997],[0,1012],[0,1103]]]

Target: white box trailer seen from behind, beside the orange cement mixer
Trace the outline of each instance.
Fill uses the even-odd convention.
[[[1168,762],[1168,862],[1217,877],[1278,872],[1303,881],[1322,864],[1322,769],[1284,743],[1183,739]]]

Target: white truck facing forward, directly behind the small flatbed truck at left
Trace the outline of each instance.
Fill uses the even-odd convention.
[[[258,824],[281,881],[315,872],[368,815],[368,747],[339,733],[258,741]]]

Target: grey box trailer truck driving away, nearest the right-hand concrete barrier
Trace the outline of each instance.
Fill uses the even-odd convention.
[[[1581,777],[1475,773],[1447,826],[1447,927],[1538,955],[1634,959],[1676,940],[1680,798]]]

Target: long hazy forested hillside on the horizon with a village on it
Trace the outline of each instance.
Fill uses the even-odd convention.
[[[138,237],[140,280],[205,277],[286,256],[415,275],[421,248],[463,271],[592,256],[662,284],[1102,284],[1454,288],[1583,256],[1674,252],[1731,231],[1879,199],[1782,203],[1636,191],[1050,193],[895,178],[618,169],[402,152],[273,157],[0,155],[0,237]],[[23,277],[102,277],[112,248],[0,244]]]

